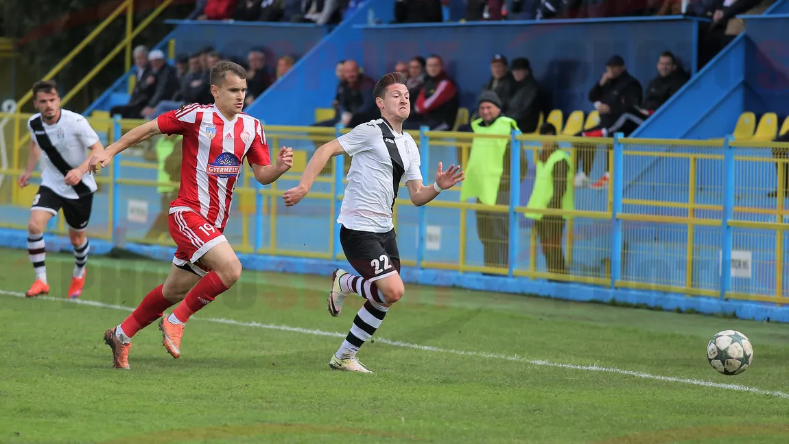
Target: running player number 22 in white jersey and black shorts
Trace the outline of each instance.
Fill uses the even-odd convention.
[[[400,183],[405,182],[411,202],[421,207],[464,178],[460,166],[452,165],[444,171],[439,162],[436,182],[424,186],[419,149],[413,137],[402,131],[402,122],[411,110],[406,77],[402,73],[381,77],[373,95],[381,118],[358,125],[318,148],[301,176],[301,183],[282,196],[288,207],[299,203],[332,156],[343,153],[353,156],[337,222],[342,224],[342,251],[361,275],[335,270],[327,304],[331,315],[338,316],[349,293],[357,293],[367,301],[353,319],[345,341],[331,356],[329,366],[364,373],[372,372],[359,362],[357,351],[372,338],[391,304],[406,291],[399,274],[400,255],[392,222]]]

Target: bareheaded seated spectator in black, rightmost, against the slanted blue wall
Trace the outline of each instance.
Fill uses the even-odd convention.
[[[689,79],[682,67],[677,65],[674,54],[664,51],[657,60],[657,76],[649,81],[644,93],[644,101],[640,106],[630,106],[608,128],[600,129],[599,134],[593,131],[586,132],[589,136],[608,137],[615,132],[622,132],[630,136],[644,121],[655,111],[663,106],[679,88],[682,88]]]

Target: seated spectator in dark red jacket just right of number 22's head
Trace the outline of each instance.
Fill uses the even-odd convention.
[[[412,121],[409,118],[404,128],[418,129],[421,125],[427,125],[436,131],[451,130],[460,106],[458,86],[444,71],[443,60],[438,55],[428,58],[425,70],[427,76],[414,106],[421,120]]]

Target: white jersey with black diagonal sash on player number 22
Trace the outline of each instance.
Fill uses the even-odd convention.
[[[337,222],[347,229],[387,233],[394,228],[400,183],[422,181],[417,143],[407,132],[394,132],[383,118],[358,125],[337,140],[353,158]]]

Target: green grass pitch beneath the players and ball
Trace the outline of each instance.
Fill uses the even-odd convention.
[[[167,263],[48,254],[50,297],[21,250],[0,250],[0,442],[789,442],[789,328],[702,315],[408,285],[359,354],[331,371],[361,299],[339,318],[328,278],[247,271],[185,329],[181,358],[155,325],[112,368],[104,330]],[[707,363],[713,334],[754,346],[744,374]]]

